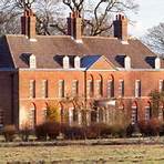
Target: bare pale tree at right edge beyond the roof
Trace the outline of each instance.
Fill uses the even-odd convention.
[[[154,52],[164,54],[164,23],[148,29],[142,40]]]

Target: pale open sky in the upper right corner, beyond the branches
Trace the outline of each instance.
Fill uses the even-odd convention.
[[[136,21],[135,25],[130,27],[130,33],[141,37],[146,29],[164,22],[164,0],[136,0],[140,4],[137,16],[132,19]]]

